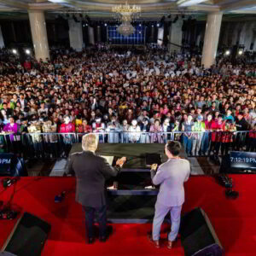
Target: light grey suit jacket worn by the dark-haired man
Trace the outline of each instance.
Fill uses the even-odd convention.
[[[169,159],[159,166],[157,172],[151,170],[154,185],[160,184],[157,201],[167,207],[178,207],[184,202],[183,183],[189,179],[190,164],[184,159]]]

